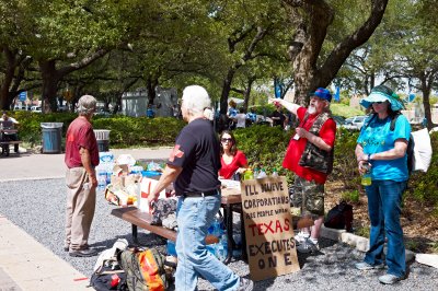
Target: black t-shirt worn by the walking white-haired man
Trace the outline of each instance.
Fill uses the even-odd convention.
[[[183,167],[176,195],[218,189],[219,141],[209,120],[198,118],[181,130],[168,164]]]

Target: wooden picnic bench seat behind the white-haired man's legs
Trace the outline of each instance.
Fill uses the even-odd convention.
[[[141,212],[137,207],[124,207],[116,208],[111,211],[111,214],[123,219],[129,223],[131,223],[132,229],[132,241],[135,244],[138,244],[138,230],[137,228],[141,228],[143,230],[148,230],[157,235],[176,242],[176,232],[163,226],[151,225],[152,214],[148,212]],[[219,238],[215,235],[208,235],[206,237],[207,244],[218,243]]]

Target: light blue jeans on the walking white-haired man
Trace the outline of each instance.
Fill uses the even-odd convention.
[[[176,216],[178,233],[175,290],[197,290],[198,277],[217,290],[237,290],[240,277],[207,252],[205,237],[220,207],[220,195],[180,197]]]

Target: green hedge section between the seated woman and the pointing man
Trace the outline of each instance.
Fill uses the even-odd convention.
[[[268,175],[276,170],[279,175],[287,176],[288,183],[292,181],[290,171],[281,166],[290,132],[279,127],[252,126],[235,130],[234,136],[251,167],[264,168]]]

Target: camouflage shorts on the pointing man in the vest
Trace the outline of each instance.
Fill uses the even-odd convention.
[[[324,184],[296,176],[290,203],[300,207],[302,214],[324,216]]]

